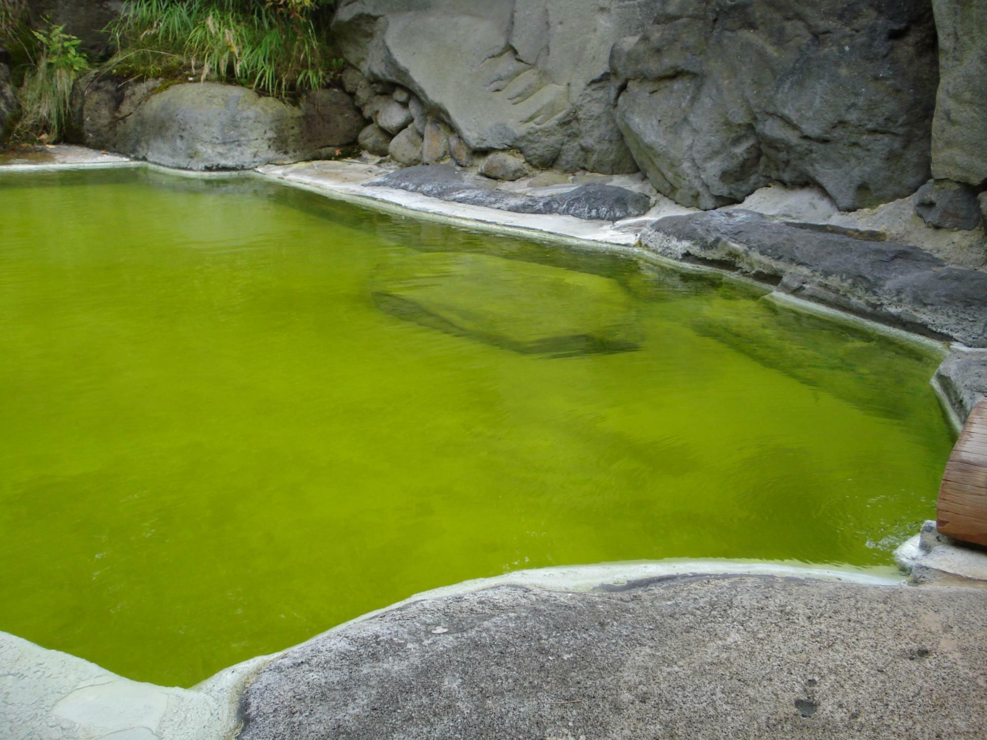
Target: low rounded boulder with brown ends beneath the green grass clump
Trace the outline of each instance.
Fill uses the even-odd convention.
[[[362,116],[340,90],[306,94],[297,108],[218,83],[136,85],[84,77],[73,91],[76,138],[95,149],[185,170],[242,170],[295,162],[352,143]]]

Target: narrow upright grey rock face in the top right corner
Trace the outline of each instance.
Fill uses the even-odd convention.
[[[957,183],[987,180],[987,3],[932,0],[939,32],[939,93],[932,174]]]

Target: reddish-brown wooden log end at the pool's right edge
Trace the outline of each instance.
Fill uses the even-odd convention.
[[[987,399],[973,407],[952,448],[936,518],[942,534],[987,546]]]

